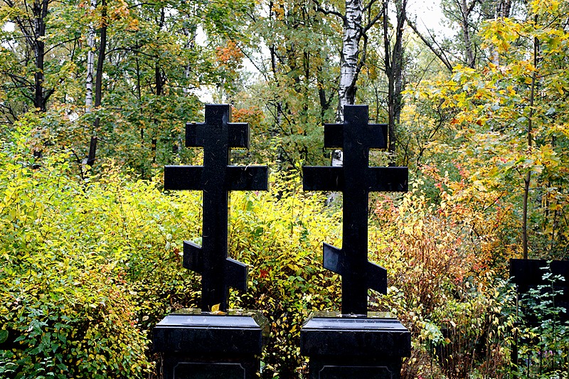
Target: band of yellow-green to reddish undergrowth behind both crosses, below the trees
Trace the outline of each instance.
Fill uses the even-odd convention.
[[[26,135],[0,152],[0,377],[159,377],[152,326],[198,306],[181,243],[201,235],[201,195],[165,193],[159,176],[140,181],[113,164],[85,181],[65,154],[34,161]],[[412,333],[405,378],[502,378],[515,321],[501,279],[511,210],[492,193],[464,201],[466,179],[420,175],[409,193],[371,201],[370,258],[389,274],[373,309]],[[250,289],[231,292],[230,306],[270,320],[263,378],[304,377],[302,322],[339,310],[341,278],[321,267],[321,244],[341,246],[341,207],[325,200],[284,174],[270,191],[232,195],[230,254],[250,265]]]

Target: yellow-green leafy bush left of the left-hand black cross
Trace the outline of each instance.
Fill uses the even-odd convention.
[[[174,243],[196,198],[171,203],[112,165],[78,181],[18,133],[0,153],[0,376],[142,378],[149,324],[196,304]]]

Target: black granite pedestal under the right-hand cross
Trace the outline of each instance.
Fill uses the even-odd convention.
[[[302,326],[300,352],[309,357],[311,379],[398,379],[411,335],[390,314],[317,313]]]

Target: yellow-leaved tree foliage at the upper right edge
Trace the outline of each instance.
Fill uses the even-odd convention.
[[[569,70],[560,57],[569,53],[569,34],[559,23],[566,5],[533,1],[526,20],[486,22],[481,37],[494,58],[480,70],[458,66],[450,80],[418,86],[403,116],[418,165],[450,171],[459,163],[479,192],[498,195],[519,220],[527,210],[534,257],[568,252],[569,112],[561,93],[569,89]]]

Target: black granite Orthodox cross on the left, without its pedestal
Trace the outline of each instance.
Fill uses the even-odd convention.
[[[228,166],[232,147],[249,147],[249,126],[231,121],[230,105],[206,105],[206,122],[186,124],[186,147],[203,147],[203,166],[165,166],[164,189],[203,191],[202,246],[184,241],[184,267],[201,274],[201,310],[220,304],[228,288],[247,290],[247,266],[228,257],[229,191],[266,191],[267,166]]]

